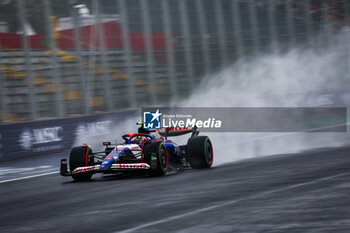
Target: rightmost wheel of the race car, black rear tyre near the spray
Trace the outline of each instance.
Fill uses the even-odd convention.
[[[195,136],[187,143],[188,161],[192,168],[209,168],[213,164],[213,146],[209,137]]]

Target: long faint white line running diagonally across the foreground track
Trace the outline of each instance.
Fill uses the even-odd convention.
[[[273,194],[273,193],[277,193],[277,192],[287,191],[287,190],[290,190],[290,189],[294,189],[294,188],[298,188],[298,187],[302,187],[302,186],[306,186],[306,185],[310,185],[310,184],[316,184],[316,183],[319,183],[319,182],[322,182],[322,181],[331,180],[331,179],[338,178],[338,177],[341,177],[341,176],[346,176],[346,175],[350,175],[350,173],[342,173],[342,174],[329,176],[329,177],[324,177],[324,178],[320,178],[320,179],[309,181],[309,182],[305,182],[305,183],[290,185],[290,186],[287,186],[287,187],[284,187],[284,188],[280,188],[280,189],[266,191],[266,192],[263,192],[263,193],[260,193],[260,194],[252,195],[252,196],[247,197],[247,198],[231,200],[231,201],[227,201],[227,202],[224,202],[224,203],[221,203],[221,204],[216,204],[216,205],[208,206],[208,207],[205,207],[205,208],[197,209],[197,210],[194,210],[194,211],[190,211],[190,212],[187,212],[187,213],[178,214],[178,215],[175,215],[175,216],[172,216],[172,217],[168,217],[168,218],[160,219],[160,220],[157,220],[157,221],[145,223],[145,224],[142,224],[142,225],[139,225],[139,226],[136,226],[136,227],[132,227],[132,228],[129,228],[129,229],[125,229],[125,230],[122,230],[122,231],[117,231],[116,233],[128,233],[128,232],[139,231],[139,230],[141,230],[142,228],[145,228],[145,227],[158,225],[158,224],[169,222],[169,221],[172,221],[172,220],[184,218],[184,217],[187,217],[187,216],[190,216],[190,215],[195,215],[195,214],[203,213],[203,212],[206,212],[206,211],[209,211],[209,210],[217,209],[217,208],[220,208],[220,207],[223,207],[223,206],[236,204],[236,203],[239,203],[239,202],[242,202],[242,201],[246,201],[246,200],[250,200],[250,199],[254,199],[254,198],[261,198],[261,197],[263,197],[265,195],[268,195],[268,194]]]

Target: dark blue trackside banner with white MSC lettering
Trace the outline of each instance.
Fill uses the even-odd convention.
[[[54,153],[69,153],[76,137],[96,135],[112,129],[113,125],[138,114],[137,110],[30,121],[0,125],[0,161]],[[101,140],[103,140],[101,138]]]

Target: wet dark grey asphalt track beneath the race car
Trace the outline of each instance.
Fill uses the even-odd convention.
[[[0,232],[350,232],[350,147],[160,178],[0,184]]]

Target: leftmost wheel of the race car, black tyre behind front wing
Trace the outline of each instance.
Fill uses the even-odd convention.
[[[93,165],[93,158],[91,158],[92,150],[88,146],[73,147],[69,155],[69,169],[71,172],[78,167],[85,167]],[[92,172],[82,172],[72,174],[72,178],[76,181],[88,181],[92,177]]]

